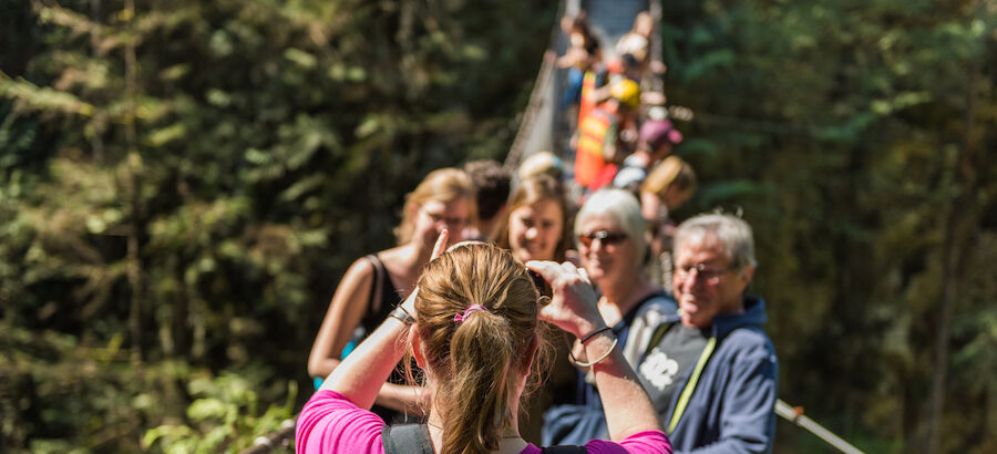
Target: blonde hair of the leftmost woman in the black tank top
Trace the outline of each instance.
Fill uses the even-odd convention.
[[[474,204],[474,186],[471,184],[471,177],[464,171],[459,168],[445,167],[430,172],[422,183],[415,186],[415,190],[405,195],[405,205],[402,208],[402,221],[394,229],[394,237],[399,245],[407,244],[412,240],[412,233],[415,229],[415,219],[412,213],[413,208],[419,208],[430,200],[439,200],[443,203],[453,202],[458,198],[466,197],[471,206],[471,219],[474,221],[477,209]]]

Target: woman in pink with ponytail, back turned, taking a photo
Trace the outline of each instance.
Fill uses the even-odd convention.
[[[544,355],[539,321],[583,339],[613,441],[567,452],[670,453],[650,400],[572,264],[531,261],[554,289],[539,297],[527,268],[503,249],[434,248],[415,291],[346,358],[298,416],[298,453],[542,453],[518,433],[520,400]],[[546,305],[544,305],[546,303]],[[388,426],[368,409],[410,352],[424,370],[426,424]],[[539,359],[538,359],[539,358]],[[562,447],[565,448],[565,447]]]

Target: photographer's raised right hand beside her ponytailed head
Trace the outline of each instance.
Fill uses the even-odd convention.
[[[596,305],[595,290],[583,269],[569,261],[558,265],[541,260],[527,261],[526,268],[543,276],[554,290],[551,303],[541,308],[541,320],[554,323],[575,337],[606,326]]]

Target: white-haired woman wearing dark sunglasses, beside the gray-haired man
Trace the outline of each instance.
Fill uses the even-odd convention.
[[[624,357],[636,364],[654,329],[676,311],[675,301],[643,274],[648,256],[647,225],[629,192],[605,188],[593,194],[575,218],[578,256],[599,292],[598,310],[619,340]],[[572,344],[575,362],[585,362],[580,340]],[[606,420],[593,376],[579,368],[574,400],[544,415],[544,444],[578,444],[603,437]]]

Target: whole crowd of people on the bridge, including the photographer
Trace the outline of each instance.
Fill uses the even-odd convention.
[[[671,219],[697,179],[641,102],[654,21],[607,63],[584,14],[563,28],[573,159],[471,162],[405,197],[398,246],[354,261],[329,303],[298,452],[771,452],[751,227]]]

